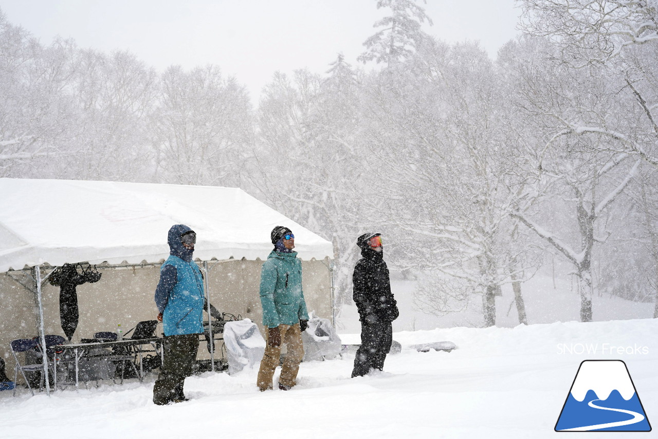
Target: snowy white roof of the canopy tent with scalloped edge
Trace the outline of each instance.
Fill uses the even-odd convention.
[[[276,225],[302,259],[333,258],[332,244],[246,192],[180,186],[0,178],[0,272],[43,263],[157,263],[174,224],[197,232],[195,259],[265,259]]]

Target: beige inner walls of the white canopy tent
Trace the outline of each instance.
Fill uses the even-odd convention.
[[[329,259],[302,261],[303,290],[309,313],[332,319],[331,272]],[[248,318],[263,332],[259,285],[263,261],[228,260],[208,263],[211,303],[220,311],[242,319]],[[203,265],[201,265],[203,271]],[[78,286],[80,320],[73,342],[93,338],[98,331],[116,331],[120,323],[124,333],[139,321],[153,320],[157,308],[153,300],[160,267],[101,269],[101,280]],[[12,371],[14,361],[9,342],[14,338],[38,335],[34,294],[20,286],[7,274],[0,275],[0,355]],[[204,313],[204,319],[207,315]],[[45,282],[43,286],[43,320],[46,334],[64,335],[59,318],[59,287]],[[162,324],[156,329],[161,336]],[[130,334],[128,335],[130,336]],[[220,357],[222,344],[216,343]],[[199,346],[199,359],[210,357],[205,342]],[[22,380],[19,379],[22,382]]]

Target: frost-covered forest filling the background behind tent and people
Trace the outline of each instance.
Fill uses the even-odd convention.
[[[43,45],[0,11],[0,177],[242,188],[332,242],[337,309],[375,230],[428,313],[492,326],[512,284],[527,323],[523,282],[560,258],[582,321],[604,294],[658,317],[658,0],[518,3],[492,59],[373,1],[356,65],[275,72],[257,105],[221,66]]]

